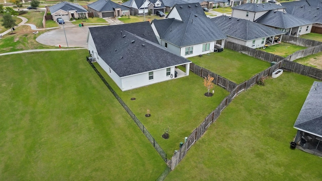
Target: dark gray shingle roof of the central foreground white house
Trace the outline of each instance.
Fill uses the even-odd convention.
[[[138,28],[141,31],[137,31]],[[145,29],[148,30],[142,31]],[[89,30],[96,48],[100,50],[98,54],[119,77],[191,62],[161,47],[148,22],[94,27]]]

